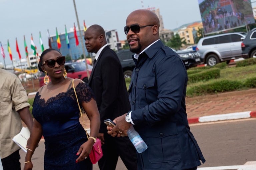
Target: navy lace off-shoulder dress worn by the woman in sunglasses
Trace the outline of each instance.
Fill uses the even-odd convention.
[[[84,83],[76,86],[77,97],[88,102],[93,98],[91,88]],[[61,92],[47,101],[37,92],[33,103],[33,116],[42,125],[45,139],[45,170],[90,170],[92,163],[85,159],[75,163],[79,147],[87,141],[86,132],[79,123],[79,109],[74,90]]]

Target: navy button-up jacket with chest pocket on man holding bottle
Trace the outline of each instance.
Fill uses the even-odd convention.
[[[131,118],[148,145],[138,156],[141,169],[181,170],[205,161],[190,132],[185,96],[187,71],[181,58],[159,40],[134,68],[129,86]]]

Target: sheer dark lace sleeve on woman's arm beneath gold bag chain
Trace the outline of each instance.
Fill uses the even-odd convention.
[[[94,94],[89,85],[81,82],[75,88],[76,88],[76,93],[77,93],[77,97],[80,104],[82,101],[89,102],[91,101],[92,98],[94,98]]]

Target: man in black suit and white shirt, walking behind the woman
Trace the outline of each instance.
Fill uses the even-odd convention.
[[[99,168],[114,170],[120,156],[128,170],[136,170],[136,150],[129,138],[111,137],[104,124],[105,119],[113,120],[130,109],[122,66],[116,53],[108,47],[105,31],[101,26],[90,26],[84,39],[87,51],[96,53],[88,84],[95,94],[100,112],[98,138],[102,142],[103,157],[98,162]]]

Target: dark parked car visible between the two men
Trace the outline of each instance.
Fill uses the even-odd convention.
[[[129,49],[126,49],[126,50],[120,50],[116,52],[116,54],[122,65],[124,77],[130,78],[132,76],[132,71],[135,67],[135,63],[132,59],[134,53],[132,53]]]

